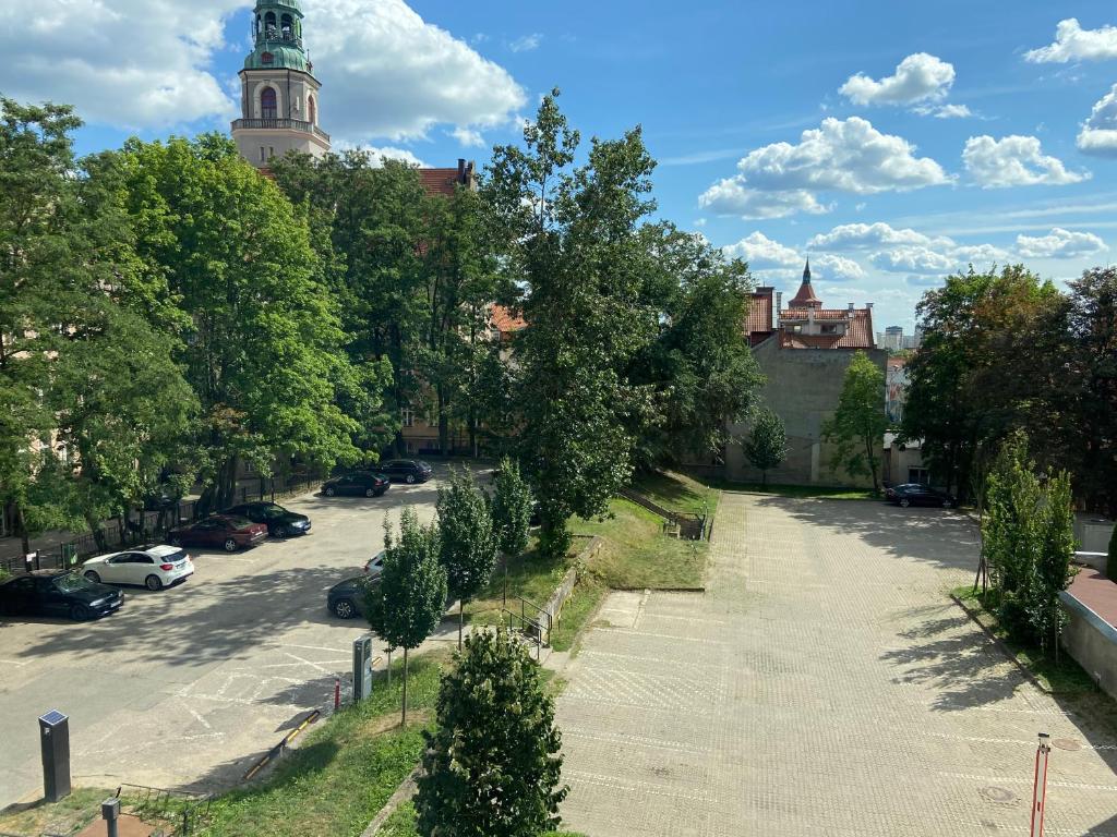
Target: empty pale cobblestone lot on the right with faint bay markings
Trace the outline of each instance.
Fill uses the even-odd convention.
[[[613,594],[567,670],[566,826],[1027,834],[1042,731],[1044,834],[1117,837],[1117,741],[946,597],[976,549],[941,510],[726,494],[707,594]]]

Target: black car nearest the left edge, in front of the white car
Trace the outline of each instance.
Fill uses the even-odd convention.
[[[68,569],[44,569],[0,584],[0,613],[79,622],[118,610],[124,594]]]

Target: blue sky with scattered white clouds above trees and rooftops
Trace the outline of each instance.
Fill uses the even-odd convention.
[[[662,217],[878,329],[968,261],[1117,252],[1111,3],[303,2],[336,143],[484,164],[561,87],[583,135],[643,126]],[[6,6],[0,92],[74,102],[80,151],[228,128],[244,0]]]

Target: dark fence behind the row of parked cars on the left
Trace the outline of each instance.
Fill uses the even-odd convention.
[[[254,500],[270,500],[300,494],[319,484],[315,474],[293,474],[287,478],[249,478],[241,480],[233,492],[233,504]],[[180,500],[164,509],[131,510],[127,517],[107,521],[103,533],[108,549],[127,549],[162,538],[170,529],[192,523],[202,517],[199,500]],[[65,569],[75,567],[86,558],[107,551],[97,546],[93,532],[48,547],[32,547],[31,558],[26,556],[0,557],[0,569],[23,573],[36,569]]]

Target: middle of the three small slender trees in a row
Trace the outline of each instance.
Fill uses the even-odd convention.
[[[488,584],[496,565],[497,537],[485,494],[462,469],[438,490],[438,528],[442,566],[450,593],[458,597],[458,647],[466,602]]]

